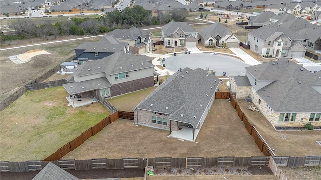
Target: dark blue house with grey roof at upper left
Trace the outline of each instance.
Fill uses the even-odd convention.
[[[88,59],[102,59],[118,51],[129,53],[128,42],[122,42],[111,35],[104,35],[97,42],[84,42],[77,46],[75,48],[76,57],[74,62],[83,64]]]

